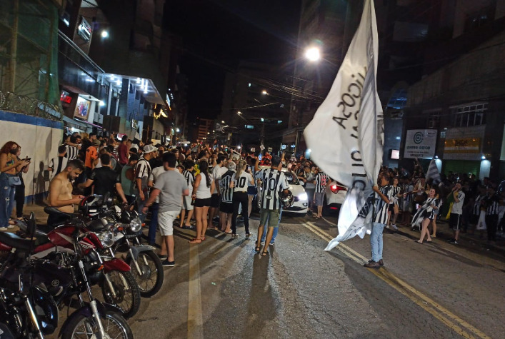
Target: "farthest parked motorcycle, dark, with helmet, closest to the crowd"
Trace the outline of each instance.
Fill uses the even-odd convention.
[[[79,212],[82,216],[93,219],[86,223],[86,227],[97,233],[101,231],[100,236],[113,232],[114,245],[106,248],[110,257],[105,258],[114,258],[117,252],[126,254],[124,260],[131,267],[141,296],[149,298],[163,285],[163,265],[154,253],[154,247],[142,245],[141,220],[136,211],[129,211],[129,207],[108,206],[102,203],[100,196],[88,196],[81,201]],[[110,235],[104,237],[111,241]]]

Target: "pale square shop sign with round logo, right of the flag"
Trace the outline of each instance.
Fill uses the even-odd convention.
[[[435,156],[436,136],[436,129],[407,131],[404,158],[432,159]]]

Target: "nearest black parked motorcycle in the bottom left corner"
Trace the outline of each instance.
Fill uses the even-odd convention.
[[[0,264],[0,319],[14,338],[44,338],[58,325],[58,306],[76,295],[81,307],[71,313],[61,327],[61,338],[133,338],[126,320],[111,305],[93,298],[85,270],[84,253],[88,234],[61,233],[74,238],[77,255],[54,252],[65,265],[47,258],[33,258],[36,223],[31,213],[26,238],[0,233],[0,250],[10,251]],[[69,231],[66,229],[66,231]],[[51,235],[51,236],[54,236]],[[90,302],[81,296],[86,292]]]

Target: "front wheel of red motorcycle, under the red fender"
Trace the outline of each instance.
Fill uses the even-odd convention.
[[[116,296],[110,290],[109,283],[104,277],[101,293],[104,295],[105,302],[119,308],[124,318],[133,317],[140,307],[140,290],[134,275],[131,272],[120,272],[119,270],[111,270],[106,274],[109,275]]]

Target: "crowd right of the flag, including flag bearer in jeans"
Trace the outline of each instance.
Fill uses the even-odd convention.
[[[431,243],[436,238],[436,221],[446,220],[453,231],[449,242],[459,244],[460,233],[471,233],[480,238],[487,233],[489,244],[505,230],[505,181],[490,178],[480,181],[474,174],[441,174],[440,180],[426,180],[421,166],[409,173],[401,168],[382,168],[374,193],[361,211],[365,217],[374,206],[371,231],[372,258],[365,266],[379,268],[382,260],[382,231],[408,226],[419,230],[416,243]],[[397,223],[396,221],[399,222]]]

